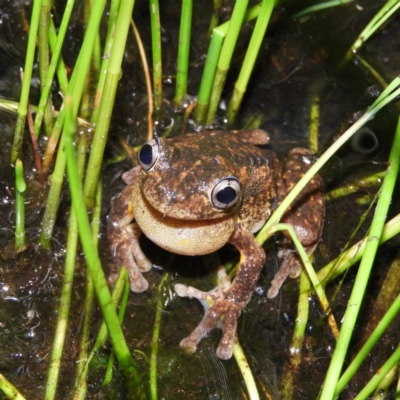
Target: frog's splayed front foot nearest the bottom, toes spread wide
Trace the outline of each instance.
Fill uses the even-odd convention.
[[[217,348],[217,356],[227,360],[232,356],[232,346],[236,333],[237,319],[242,307],[225,298],[231,287],[231,281],[224,268],[218,271],[218,286],[210,292],[203,292],[193,286],[175,285],[175,292],[180,297],[195,297],[204,307],[205,314],[197,328],[180,343],[189,353],[196,351],[198,343],[214,328],[222,329],[222,338]]]

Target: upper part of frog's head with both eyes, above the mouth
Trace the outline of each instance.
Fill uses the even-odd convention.
[[[181,220],[234,214],[243,196],[232,151],[206,136],[190,136],[180,141],[156,138],[142,146],[143,196],[160,213]]]

